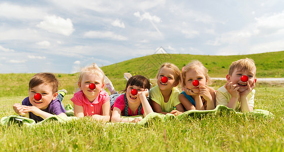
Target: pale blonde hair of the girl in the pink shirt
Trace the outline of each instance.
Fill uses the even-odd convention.
[[[102,78],[102,83],[104,83],[104,71],[96,64],[96,63],[92,63],[89,66],[86,66],[84,68],[81,69],[80,75],[79,75],[79,80],[77,81],[78,84],[80,84],[82,82],[82,79],[84,77],[85,73],[93,73],[98,75],[99,77]]]

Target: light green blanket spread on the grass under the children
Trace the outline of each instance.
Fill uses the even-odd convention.
[[[69,107],[67,107],[67,113],[69,112],[68,116],[74,116],[74,111],[71,110],[73,109],[71,105],[68,105]],[[152,120],[158,120],[158,121],[165,121],[165,120],[171,120],[171,119],[178,119],[178,120],[182,120],[182,119],[187,119],[187,118],[202,118],[206,115],[219,115],[219,114],[225,114],[225,115],[229,115],[229,113],[236,113],[239,116],[248,116],[248,117],[254,117],[254,118],[265,118],[265,119],[273,119],[274,115],[267,111],[267,110],[262,110],[262,109],[255,109],[251,112],[246,112],[246,113],[242,113],[242,112],[237,112],[232,108],[228,108],[225,105],[217,105],[215,109],[213,110],[189,110],[186,111],[184,113],[182,113],[181,115],[178,115],[177,117],[172,115],[171,113],[168,113],[167,115],[163,115],[161,113],[155,113],[152,112],[149,115],[147,115],[145,118],[143,118],[143,115],[138,115],[138,116],[131,116],[131,117],[123,117],[121,116],[123,119],[127,119],[127,120],[134,120],[135,118],[141,118],[142,121],[136,123],[137,125],[145,125],[148,122],[152,121]],[[12,116],[7,116],[7,117],[3,117],[1,118],[1,125],[8,125],[8,124],[19,124],[19,125],[26,125],[26,126],[31,126],[31,125],[41,125],[44,123],[48,123],[50,121],[58,121],[59,123],[66,123],[70,120],[74,120],[77,119],[77,117],[65,117],[65,116],[51,116],[39,123],[36,123],[34,120],[32,119],[28,119],[25,117],[21,117],[21,116],[17,116],[17,115],[12,115]],[[108,124],[113,124],[113,123],[108,123]],[[133,124],[133,123],[130,123]]]

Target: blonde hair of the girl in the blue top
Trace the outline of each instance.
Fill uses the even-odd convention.
[[[186,72],[190,71],[191,69],[201,69],[203,72],[203,75],[206,78],[206,84],[210,85],[211,84],[211,79],[208,75],[208,69],[198,60],[192,60],[190,63],[185,65],[183,71],[181,72],[181,77],[182,77],[182,84],[181,87],[185,86],[185,76]]]

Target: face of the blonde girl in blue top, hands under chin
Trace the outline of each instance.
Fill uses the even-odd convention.
[[[193,85],[193,81],[194,80],[198,80],[199,81],[199,85],[198,86],[194,86]],[[194,93],[198,93],[199,92],[199,86],[206,86],[206,77],[203,74],[203,71],[201,68],[197,68],[197,69],[190,69],[189,71],[187,71],[185,73],[185,87],[187,89],[191,89]]]

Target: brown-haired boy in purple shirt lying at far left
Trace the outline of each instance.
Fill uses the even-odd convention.
[[[58,81],[52,73],[37,73],[29,81],[28,97],[15,103],[14,111],[36,122],[53,116],[67,116],[57,97]]]

